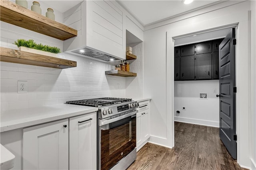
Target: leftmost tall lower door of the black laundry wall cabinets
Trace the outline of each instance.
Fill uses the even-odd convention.
[[[194,55],[180,57],[180,80],[194,80]]]

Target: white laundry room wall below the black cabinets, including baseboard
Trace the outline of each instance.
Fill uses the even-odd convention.
[[[207,99],[200,99],[200,93],[207,93]],[[219,127],[216,94],[219,94],[219,80],[175,81],[174,121]],[[186,110],[182,110],[183,106]],[[180,114],[176,114],[177,110]]]

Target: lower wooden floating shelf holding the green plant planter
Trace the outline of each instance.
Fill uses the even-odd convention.
[[[4,47],[0,47],[0,51],[1,51],[0,61],[4,61],[4,62],[44,66],[44,67],[51,67],[51,68],[61,68],[61,69],[76,67],[76,61],[70,61],[70,60],[50,57],[46,55],[28,53],[25,51],[19,51],[15,49],[4,48]]]

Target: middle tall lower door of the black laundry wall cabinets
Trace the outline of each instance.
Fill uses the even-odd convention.
[[[212,53],[196,55],[196,79],[212,79]]]

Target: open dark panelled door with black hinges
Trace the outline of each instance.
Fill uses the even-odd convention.
[[[220,139],[231,156],[236,159],[236,75],[235,75],[235,28],[219,46],[220,69]]]

